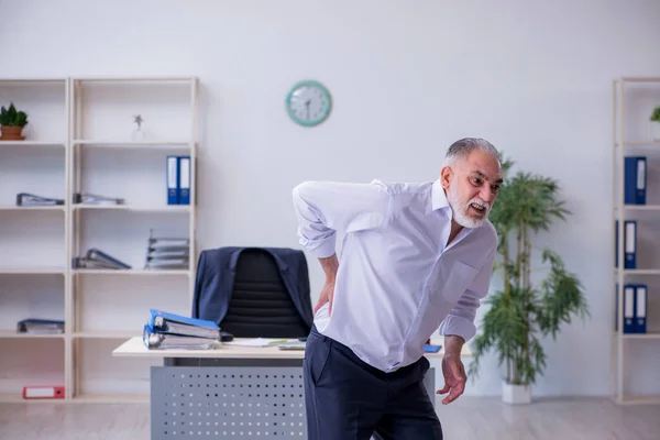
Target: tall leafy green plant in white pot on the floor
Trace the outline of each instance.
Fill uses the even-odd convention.
[[[503,165],[507,174],[513,162]],[[509,404],[531,402],[530,385],[546,367],[540,338],[551,334],[556,340],[571,315],[588,316],[581,282],[551,249],[540,251],[544,278],[532,279],[535,234],[570,213],[558,194],[554,179],[518,172],[505,179],[490,217],[499,238],[494,272],[502,275],[503,288],[485,300],[490,308],[472,343],[469,371],[476,377],[482,358],[491,349],[497,351],[498,364],[505,367],[503,400]]]

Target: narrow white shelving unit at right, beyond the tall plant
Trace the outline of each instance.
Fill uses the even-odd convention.
[[[612,396],[618,404],[660,404],[660,395],[649,395],[645,385],[658,384],[660,353],[660,141],[650,136],[649,116],[660,106],[660,77],[623,77],[613,84],[613,227],[618,220],[618,267],[614,268],[612,297]],[[625,157],[647,156],[647,205],[626,205]],[[637,265],[624,268],[624,220],[637,221]],[[614,263],[614,262],[613,262]],[[624,286],[648,286],[647,333],[624,333]],[[616,301],[615,301],[616,298]],[[646,381],[645,381],[646,380]],[[645,383],[646,382],[646,383]],[[657,393],[657,392],[656,392]]]

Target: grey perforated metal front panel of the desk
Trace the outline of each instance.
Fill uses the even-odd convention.
[[[307,439],[302,369],[154,366],[152,439]]]

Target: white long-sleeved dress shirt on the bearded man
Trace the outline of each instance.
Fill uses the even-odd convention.
[[[486,221],[447,245],[452,211],[440,180],[305,182],[293,196],[310,255],[331,256],[343,234],[332,312],[326,304],[315,315],[319,332],[384,372],[416,362],[437,329],[474,337],[497,234]]]

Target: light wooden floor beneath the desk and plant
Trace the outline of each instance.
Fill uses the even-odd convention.
[[[446,440],[659,440],[660,406],[604,398],[512,407],[463,396],[439,405]],[[0,404],[0,440],[148,440],[146,404]]]

